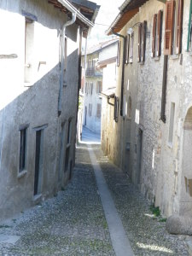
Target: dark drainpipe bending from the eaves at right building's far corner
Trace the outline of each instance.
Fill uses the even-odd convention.
[[[113,32],[113,29],[112,29]],[[123,116],[123,103],[124,103],[124,74],[125,74],[125,45],[126,45],[126,38],[125,36],[113,32],[115,36],[118,36],[119,38],[124,39],[124,45],[123,45],[123,63],[122,63],[122,75],[121,75],[121,90],[120,90],[120,115]]]

